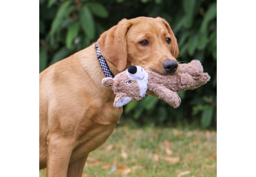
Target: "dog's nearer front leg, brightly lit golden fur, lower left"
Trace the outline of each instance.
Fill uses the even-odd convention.
[[[47,177],[66,177],[68,163],[74,147],[70,138],[47,135]]]

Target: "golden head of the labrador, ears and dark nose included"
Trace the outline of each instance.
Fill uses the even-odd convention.
[[[98,46],[106,60],[119,72],[138,65],[162,75],[179,71],[177,39],[162,18],[137,17],[121,20],[104,32]]]

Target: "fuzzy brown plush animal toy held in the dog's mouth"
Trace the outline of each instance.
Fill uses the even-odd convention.
[[[121,107],[130,101],[138,101],[147,93],[154,93],[158,98],[174,108],[179,107],[181,99],[177,92],[193,90],[210,80],[208,73],[203,72],[203,67],[198,60],[188,64],[180,64],[180,71],[176,75],[161,75],[140,66],[130,66],[115,76],[104,78],[105,87],[112,86],[116,95],[114,106]]]

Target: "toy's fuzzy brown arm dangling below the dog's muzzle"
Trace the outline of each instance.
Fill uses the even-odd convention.
[[[177,108],[180,106],[181,99],[178,95],[178,93],[173,92],[166,87],[162,85],[157,85],[157,86],[150,86],[148,85],[148,90],[152,91],[156,96],[169,105],[173,106],[174,108]]]

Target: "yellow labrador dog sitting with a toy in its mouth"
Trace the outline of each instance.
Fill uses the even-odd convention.
[[[113,106],[111,87],[102,86],[106,75],[98,58],[105,58],[113,75],[130,65],[163,75],[179,71],[177,40],[160,17],[123,19],[100,35],[96,47],[39,74],[39,168],[47,167],[48,177],[81,177],[88,154],[106,141],[122,114],[122,107]]]

